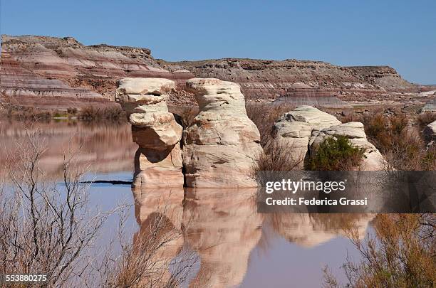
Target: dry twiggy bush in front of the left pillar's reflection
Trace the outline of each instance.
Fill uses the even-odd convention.
[[[141,224],[133,245],[123,238],[125,218],[120,218],[120,256],[113,259],[108,252],[103,265],[95,269],[100,273],[101,287],[180,287],[187,281],[199,259],[189,250],[179,251],[175,259],[171,252],[165,255],[182,240],[182,231],[172,225],[166,210],[165,206],[156,207]]]

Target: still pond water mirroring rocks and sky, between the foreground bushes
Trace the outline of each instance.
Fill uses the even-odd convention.
[[[101,180],[90,186],[91,205],[103,210],[130,205],[125,233],[131,242],[148,233],[147,223],[156,215],[182,230],[159,255],[174,259],[183,249],[194,252],[198,263],[192,267],[192,287],[321,287],[325,265],[344,280],[341,265],[347,257],[359,256],[343,236],[343,223],[355,220],[364,235],[373,219],[259,214],[255,189],[137,189],[105,183],[132,181],[136,144],[130,125],[51,122],[36,128],[43,129],[41,140],[48,146],[41,161],[48,176],[56,181],[64,152],[78,149],[78,163],[89,165],[88,177]],[[15,122],[1,122],[0,129],[3,167],[16,143],[25,139],[26,129]],[[114,233],[116,220],[109,221],[99,241]]]

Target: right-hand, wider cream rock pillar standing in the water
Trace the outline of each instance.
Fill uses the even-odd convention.
[[[262,149],[256,125],[246,115],[239,85],[219,79],[187,81],[199,114],[184,135],[188,187],[254,187],[251,169]]]

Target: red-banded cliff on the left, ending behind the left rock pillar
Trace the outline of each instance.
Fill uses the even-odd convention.
[[[22,105],[32,105],[35,97],[53,108],[58,97],[71,107],[108,101],[116,81],[126,77],[167,78],[184,86],[194,75],[163,69],[147,48],[84,46],[72,37],[1,36],[1,92]]]

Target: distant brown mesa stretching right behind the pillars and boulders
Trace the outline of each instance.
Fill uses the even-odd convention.
[[[321,61],[308,60],[258,60],[224,58],[200,61],[164,62],[168,70],[187,69],[199,78],[218,78],[236,82],[247,100],[276,99],[289,95],[292,85],[303,82],[323,95],[372,95],[380,97],[386,91],[417,91],[387,66],[365,66],[362,69],[344,68]],[[377,75],[373,81],[369,75]],[[304,94],[298,93],[298,98]],[[303,103],[301,103],[303,104]],[[308,104],[308,103],[305,103]],[[330,103],[328,103],[330,104]]]

